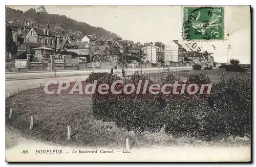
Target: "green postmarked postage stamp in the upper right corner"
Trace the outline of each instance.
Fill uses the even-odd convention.
[[[183,7],[184,40],[223,40],[224,7]]]

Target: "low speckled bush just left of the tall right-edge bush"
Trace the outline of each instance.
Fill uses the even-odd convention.
[[[166,107],[166,129],[175,137],[190,136],[212,138],[216,135],[215,122],[218,120],[216,111],[208,108],[208,101],[188,99],[172,101]]]

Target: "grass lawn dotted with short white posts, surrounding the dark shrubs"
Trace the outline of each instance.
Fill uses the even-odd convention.
[[[177,71],[176,74],[185,78],[189,75],[188,73],[197,72]],[[212,82],[218,82],[223,74],[221,70],[206,70],[206,72]],[[157,74],[151,75],[155,79],[158,77]],[[236,74],[225,75],[225,78],[230,77],[236,77]],[[238,77],[250,78],[250,74],[239,74]],[[246,137],[220,136],[216,141],[206,142],[188,137],[174,138],[164,132],[128,132],[118,128],[114,123],[95,120],[91,102],[91,96],[86,94],[46,94],[42,87],[23,91],[6,100],[6,124],[33,139],[69,146],[125,148],[126,137],[130,138],[132,147],[183,146],[186,144],[196,146],[250,145]],[[12,117],[9,119],[10,108],[12,108]],[[31,116],[34,117],[32,130],[30,130]],[[67,140],[67,126],[71,126],[71,140],[69,141]]]

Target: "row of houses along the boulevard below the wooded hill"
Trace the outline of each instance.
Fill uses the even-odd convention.
[[[40,7],[43,10],[42,7]],[[144,45],[129,43],[129,41],[105,40],[97,34],[83,35],[79,31],[65,31],[61,27],[55,26],[50,29],[49,22],[45,26],[39,25],[35,19],[9,20],[6,26],[12,29],[13,41],[17,45],[17,54],[7,58],[25,58],[27,54],[34,55],[34,59],[40,61],[42,58],[50,58],[50,55],[65,55],[67,60],[76,57],[87,57],[91,61],[103,61],[106,52],[116,48],[129,45],[129,55],[137,57],[141,54],[144,63],[156,64],[164,61],[166,65],[180,66],[186,63],[197,63],[213,65],[214,58],[209,54],[187,51],[178,40],[173,40],[165,44],[164,49],[151,43]],[[23,38],[23,43],[18,40]],[[108,61],[117,62],[110,58]]]

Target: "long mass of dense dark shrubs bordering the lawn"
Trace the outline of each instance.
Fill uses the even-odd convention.
[[[100,83],[111,84],[117,76],[100,77]],[[136,74],[127,83],[148,79]],[[174,82],[171,74],[163,82]],[[150,80],[151,83],[154,83]],[[193,74],[188,83],[209,83],[204,74]],[[121,89],[118,85],[117,89]],[[251,92],[248,80],[231,78],[212,85],[211,94],[99,94],[93,95],[93,114],[98,120],[115,122],[134,131],[157,132],[165,127],[167,134],[212,139],[218,135],[250,133]]]

